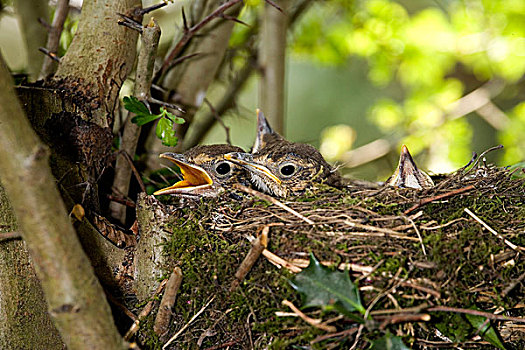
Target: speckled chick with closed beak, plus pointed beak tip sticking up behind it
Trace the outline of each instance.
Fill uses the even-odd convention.
[[[301,193],[313,183],[341,185],[341,177],[317,149],[285,140],[260,110],[252,153],[232,152],[224,157],[244,167],[261,191],[279,197]]]

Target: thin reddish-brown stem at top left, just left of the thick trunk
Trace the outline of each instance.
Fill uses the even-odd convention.
[[[46,54],[46,57],[44,58],[38,79],[44,79],[53,73],[53,61],[59,61],[56,60],[56,53],[58,52],[60,34],[64,28],[64,22],[66,21],[68,12],[69,0],[58,0],[55,10],[55,17],[53,18],[53,23],[49,28],[49,34],[47,36],[46,49],[49,54]],[[53,53],[54,56],[51,56],[51,53]]]

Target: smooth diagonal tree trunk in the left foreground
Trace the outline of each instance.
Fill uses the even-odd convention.
[[[48,149],[31,129],[12,84],[0,59],[0,174],[49,313],[70,349],[122,349],[104,292],[49,169]]]

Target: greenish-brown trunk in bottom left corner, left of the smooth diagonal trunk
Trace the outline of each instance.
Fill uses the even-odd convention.
[[[0,185],[0,232],[17,229]],[[47,308],[25,242],[0,241],[0,349],[63,349]]]

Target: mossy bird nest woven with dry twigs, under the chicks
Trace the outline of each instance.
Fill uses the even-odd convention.
[[[188,276],[171,346],[366,348],[391,333],[415,349],[494,348],[490,333],[525,348],[523,173],[481,165],[422,191],[321,185],[286,200],[235,192],[165,209],[175,218],[167,251]],[[329,307],[299,310],[288,281],[310,253],[350,272],[364,324]],[[261,254],[253,266],[250,254]],[[197,305],[207,316],[177,333]]]

